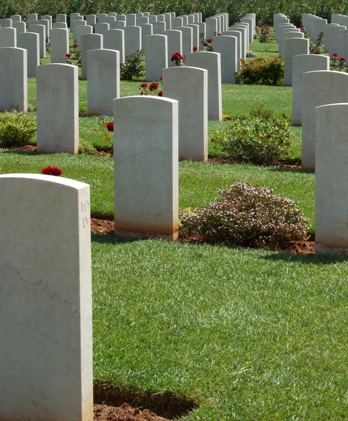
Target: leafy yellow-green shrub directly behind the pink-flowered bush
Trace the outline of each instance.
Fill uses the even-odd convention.
[[[276,120],[250,117],[227,121],[211,140],[220,144],[234,161],[273,165],[289,158],[291,135],[285,117]]]

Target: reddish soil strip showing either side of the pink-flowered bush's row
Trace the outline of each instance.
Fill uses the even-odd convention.
[[[114,221],[103,220],[98,218],[91,218],[91,232],[93,234],[114,234]],[[203,236],[185,236],[179,232],[180,243],[204,243]],[[284,248],[274,248],[283,253],[292,254],[314,254],[315,241],[314,238],[309,238],[309,241],[291,241],[290,245]]]

